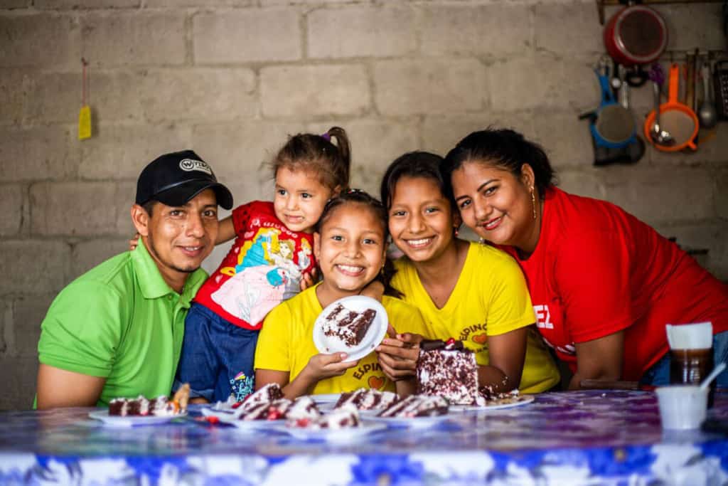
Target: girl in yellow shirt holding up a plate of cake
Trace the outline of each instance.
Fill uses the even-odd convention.
[[[351,190],[326,204],[314,232],[314,256],[323,280],[266,316],[256,348],[256,388],[278,383],[288,399],[359,388],[400,394],[414,391],[411,381],[397,381],[395,386],[384,373],[373,351],[378,342],[358,359],[348,359],[344,352],[322,353],[314,343],[316,326],[341,312],[335,310],[336,305],[326,313],[324,309],[339,299],[359,295],[377,279],[384,284],[381,305],[389,324],[397,332],[431,334],[416,307],[392,297],[395,291],[387,282],[387,238],[387,212],[365,192]],[[357,340],[347,339],[354,344]]]

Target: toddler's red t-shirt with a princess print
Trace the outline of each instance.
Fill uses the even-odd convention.
[[[237,235],[194,302],[231,324],[260,329],[266,314],[298,294],[301,275],[316,266],[313,235],[288,230],[273,203],[253,201],[232,211]]]

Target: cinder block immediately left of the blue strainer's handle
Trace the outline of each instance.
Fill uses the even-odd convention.
[[[493,109],[571,109],[577,113],[594,109],[600,96],[592,63],[547,52],[496,61],[488,66]]]

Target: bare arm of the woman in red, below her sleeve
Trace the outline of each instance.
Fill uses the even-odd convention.
[[[581,388],[582,380],[619,380],[625,353],[625,333],[614,332],[596,340],[577,342],[577,372],[569,390]]]

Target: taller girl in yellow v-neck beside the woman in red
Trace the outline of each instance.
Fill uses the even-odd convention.
[[[392,286],[422,312],[432,337],[462,341],[475,352],[480,386],[495,393],[547,391],[560,378],[531,329],[536,318],[523,273],[505,252],[457,238],[460,219],[440,176],[442,160],[404,154],[382,179],[389,232],[404,253]],[[377,350],[382,367],[401,376],[414,370],[419,338],[399,338]]]

